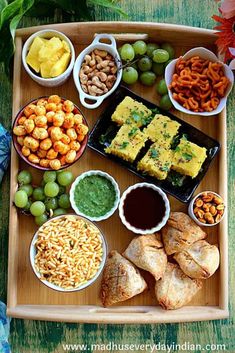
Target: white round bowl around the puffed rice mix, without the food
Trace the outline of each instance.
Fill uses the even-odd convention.
[[[59,292],[78,292],[86,287],[89,287],[90,285],[92,285],[96,280],[97,278],[99,277],[99,275],[101,274],[103,268],[104,268],[104,265],[105,265],[105,261],[106,261],[106,258],[107,258],[107,253],[108,253],[108,250],[107,250],[107,243],[106,243],[106,240],[104,238],[104,235],[102,234],[102,232],[100,231],[100,229],[94,224],[92,223],[91,221],[89,221],[87,218],[84,218],[84,217],[81,217],[81,216],[77,216],[77,215],[61,215],[61,216],[57,216],[57,217],[53,217],[52,219],[48,220],[45,224],[48,224],[50,221],[52,220],[55,220],[56,218],[62,218],[62,217],[65,217],[65,216],[73,216],[73,217],[77,217],[79,219],[83,219],[85,220],[87,223],[90,223],[92,224],[94,227],[96,227],[99,232],[100,232],[100,237],[101,237],[101,240],[102,240],[102,248],[103,248],[103,257],[102,257],[102,261],[101,261],[101,264],[100,264],[100,267],[96,273],[96,275],[91,278],[89,281],[87,281],[86,283],[82,284],[81,286],[77,287],[77,288],[73,288],[73,289],[65,289],[63,287],[59,287],[51,282],[48,282],[46,280],[42,280],[41,279],[41,275],[40,273],[37,271],[37,269],[35,268],[35,265],[34,265],[34,260],[35,260],[35,256],[36,256],[36,247],[35,247],[35,243],[36,243],[36,240],[37,240],[37,237],[38,237],[38,233],[41,229],[41,227],[37,230],[37,232],[34,234],[33,236],[33,239],[31,241],[31,244],[30,244],[30,250],[29,250],[29,257],[30,257],[30,263],[31,263],[31,266],[32,266],[32,269],[33,269],[33,272],[35,273],[36,277],[43,283],[45,284],[47,287],[51,288],[51,289],[54,289],[54,290],[57,290]]]

